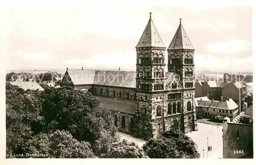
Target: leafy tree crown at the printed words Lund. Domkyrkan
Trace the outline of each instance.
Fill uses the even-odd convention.
[[[93,158],[94,153],[88,142],[78,142],[69,131],[59,131],[47,135],[39,133],[29,140],[27,153],[34,153],[31,157],[50,158]],[[39,156],[38,156],[39,155]]]

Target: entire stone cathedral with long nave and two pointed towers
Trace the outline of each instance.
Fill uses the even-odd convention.
[[[95,95],[110,109],[119,131],[141,139],[157,137],[176,128],[196,131],[194,47],[182,20],[167,48],[152,13],[136,46],[136,71],[69,70],[61,85]]]

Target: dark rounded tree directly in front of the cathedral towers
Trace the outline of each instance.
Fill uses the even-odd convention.
[[[184,133],[171,129],[143,145],[150,158],[199,158],[196,144]]]

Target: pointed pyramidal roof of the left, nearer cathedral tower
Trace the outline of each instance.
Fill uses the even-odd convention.
[[[148,47],[148,46],[154,46],[154,47],[164,47],[164,43],[157,31],[157,28],[151,18],[150,13],[150,20],[148,20],[146,28],[144,32],[142,33],[142,36],[139,40],[139,43],[137,44],[136,48],[138,47]]]

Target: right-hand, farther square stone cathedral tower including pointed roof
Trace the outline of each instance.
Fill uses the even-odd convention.
[[[191,44],[181,22],[172,42],[167,48],[168,72],[179,75],[182,84],[183,131],[197,130],[195,112],[195,49]]]

